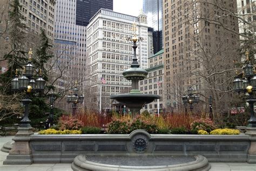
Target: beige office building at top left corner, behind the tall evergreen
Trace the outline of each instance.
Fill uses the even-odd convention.
[[[0,13],[1,13],[1,19],[0,19],[0,33],[1,33],[1,52],[0,56],[3,57],[6,52],[11,51],[10,47],[10,40],[8,35],[8,30],[11,28],[11,23],[9,20],[9,10],[11,10],[11,4],[13,3],[12,0],[1,0],[0,1]],[[49,38],[49,43],[53,43],[53,34],[54,34],[54,24],[55,24],[55,0],[41,0],[41,1],[32,1],[32,0],[21,0],[19,1],[19,4],[21,5],[21,13],[24,17],[24,22],[26,26],[28,26],[28,29],[26,32],[28,33],[28,39],[34,39],[34,37],[37,37],[36,35],[40,34],[40,30],[44,30],[46,36]],[[6,30],[6,32],[5,32]],[[38,38],[38,37],[37,37]],[[34,39],[35,41],[35,39]],[[29,42],[30,47],[35,46],[36,42]],[[33,45],[34,43],[34,45]],[[29,49],[29,47],[28,47]],[[28,49],[25,49],[24,51],[28,51]],[[6,63],[0,64],[2,67],[7,67]]]

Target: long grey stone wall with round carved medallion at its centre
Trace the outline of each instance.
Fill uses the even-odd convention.
[[[86,155],[204,155],[210,162],[246,162],[250,136],[149,134],[31,135],[33,163],[71,163]]]

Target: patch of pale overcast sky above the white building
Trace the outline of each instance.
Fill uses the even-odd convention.
[[[143,0],[113,0],[113,11],[138,16]]]

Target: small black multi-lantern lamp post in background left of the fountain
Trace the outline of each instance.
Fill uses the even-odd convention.
[[[73,94],[72,95],[70,94],[66,97],[66,102],[68,103],[72,102],[72,115],[76,114],[77,103],[80,102],[80,104],[82,104],[83,101],[84,101],[84,96],[82,94],[78,96],[78,88],[77,87],[73,88]]]

